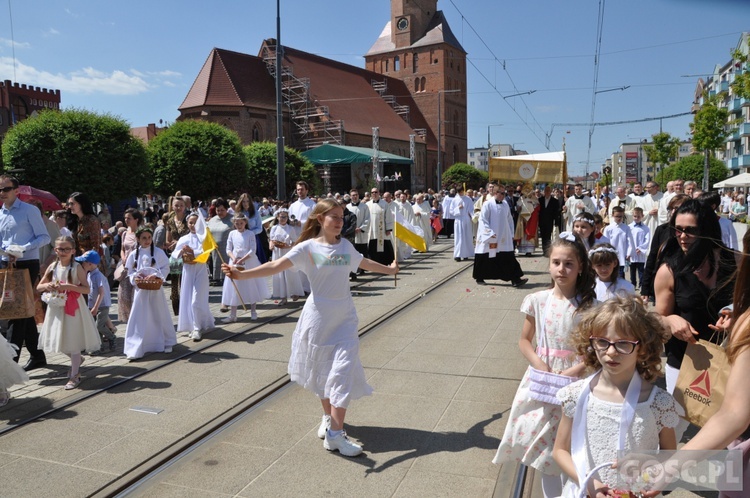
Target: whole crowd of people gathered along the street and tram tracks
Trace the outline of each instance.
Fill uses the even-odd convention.
[[[109,212],[95,214],[85,194],[72,194],[68,209],[47,219],[17,199],[17,187],[15,178],[0,176],[2,264],[29,270],[46,314],[41,333],[34,318],[9,322],[11,345],[0,344],[0,401],[8,401],[9,385],[46,365],[45,352],[70,357],[65,388],[75,389],[81,353],[115,349],[110,286],[117,286],[123,351],[132,360],[170,352],[178,332],[198,341],[213,329],[212,284],[222,287],[224,323],[237,320],[239,306],[249,305],[255,320],[256,304],[269,297],[283,305],[307,296],[289,372],[321,400],[324,447],[358,455],[344,417],[350,401],[372,390],[358,357],[356,310],[342,284],[367,271],[398,272],[414,249],[394,236],[397,223],[421,233],[428,248],[438,236],[453,239],[454,259],[473,260],[480,285],[499,279],[522,286],[517,257],[541,245],[549,258],[551,287],[521,305],[519,349],[529,368],[494,459],[540,471],[545,496],[575,496],[586,472],[617,450],[677,447],[686,423],[672,393],[688,343],[720,342],[715,331],[729,331],[728,387],[750,392],[750,237],[741,252],[732,224],[746,217],[744,193],[701,192],[695,182],[675,180],[663,193],[653,181],[614,193],[577,184],[566,197],[551,186],[490,182],[476,191],[381,195],[373,187],[311,198],[300,181],[289,204],[248,194],[193,203],[178,192],[165,212],[129,208],[112,225]],[[206,228],[217,246],[210,254]],[[161,290],[167,279],[171,314]],[[28,363],[11,365],[24,345]],[[665,385],[656,387],[662,371]],[[724,423],[707,424],[688,446],[721,448],[741,437],[750,423],[748,398],[728,399],[716,415]],[[726,423],[730,417],[739,418]],[[614,472],[605,470],[590,492],[611,495],[613,486]]]

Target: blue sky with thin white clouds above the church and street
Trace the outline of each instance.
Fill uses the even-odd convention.
[[[281,3],[283,44],[357,66],[390,17],[388,0]],[[174,121],[213,47],[257,54],[276,33],[273,0],[0,4],[0,79],[59,88],[63,107],[132,126]],[[659,131],[659,121],[599,126],[589,153],[588,126],[559,125],[591,121],[598,0],[439,0],[438,8],[469,54],[469,147],[486,146],[490,127],[493,143],[546,152],[552,131],[550,150],[565,137],[575,174],[587,158],[597,170],[622,142]],[[598,89],[630,88],[599,93],[594,121],[689,111],[698,77],[682,75],[713,72],[747,30],[748,0],[609,0]],[[662,126],[686,138],[690,120]]]

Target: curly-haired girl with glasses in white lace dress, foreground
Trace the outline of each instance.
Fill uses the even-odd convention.
[[[661,354],[670,336],[656,314],[632,297],[613,297],[581,317],[574,334],[576,353],[596,372],[557,393],[563,418],[554,457],[570,477],[563,496],[578,496],[584,476],[616,460],[618,450],[676,448],[675,400],[652,384],[660,374]],[[642,487],[646,483],[614,489],[617,470],[605,467],[598,474],[599,479],[589,484],[589,496],[648,491]],[[618,491],[620,495],[615,494]]]

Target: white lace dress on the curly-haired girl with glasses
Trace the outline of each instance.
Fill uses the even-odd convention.
[[[563,413],[573,418],[576,403],[581,395],[584,380],[579,380],[560,389],[558,399],[562,401]],[[597,398],[593,393],[588,397],[586,414],[586,453],[588,467],[612,462],[617,454],[617,434],[620,432],[620,414],[622,403],[612,403]],[[635,416],[630,430],[625,437],[625,450],[657,450],[659,449],[659,433],[665,427],[674,428],[680,418],[674,398],[664,389],[654,386],[646,401],[636,405]],[[599,480],[608,486],[616,481],[617,471],[605,467],[599,471]],[[567,484],[563,496],[576,496],[573,486]]]

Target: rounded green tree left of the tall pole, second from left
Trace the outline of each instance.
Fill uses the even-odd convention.
[[[178,121],[148,144],[148,152],[159,194],[180,190],[193,199],[209,199],[247,187],[240,138],[220,124]]]

